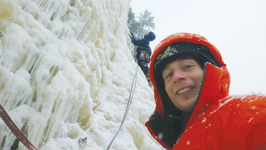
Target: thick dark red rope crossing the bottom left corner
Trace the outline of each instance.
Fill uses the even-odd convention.
[[[12,133],[14,133],[17,139],[20,140],[20,142],[27,147],[27,149],[29,150],[36,149],[36,147],[34,147],[32,143],[30,143],[30,141],[26,138],[26,136],[20,131],[20,129],[12,121],[10,116],[7,114],[7,111],[4,109],[4,107],[1,104],[0,104],[0,117],[3,119],[4,123],[7,125],[7,127],[9,127]]]

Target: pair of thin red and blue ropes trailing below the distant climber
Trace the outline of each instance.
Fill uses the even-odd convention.
[[[116,135],[113,137],[112,141],[109,143],[109,145],[107,146],[106,150],[109,150],[110,147],[111,147],[111,144],[113,143],[114,139],[116,138],[116,136],[118,135],[120,129],[122,128],[123,124],[124,124],[124,121],[126,119],[126,116],[127,116],[127,113],[128,113],[128,110],[129,110],[129,107],[130,107],[130,104],[131,104],[131,101],[132,101],[132,98],[133,98],[133,95],[134,95],[134,92],[135,92],[135,89],[136,89],[136,83],[137,83],[137,72],[138,72],[138,68],[139,68],[139,65],[137,65],[137,71],[135,73],[135,76],[133,77],[132,79],[132,85],[131,85],[131,90],[130,90],[130,94],[129,94],[129,99],[128,99],[128,102],[127,102],[127,106],[126,106],[126,111],[125,111],[125,114],[124,114],[124,118],[122,120],[122,123],[118,129],[118,131],[116,132]],[[134,85],[134,90],[133,90],[133,93],[132,93],[132,97],[131,97],[131,92],[132,92],[132,87],[133,87],[133,83],[134,83],[134,78],[136,77],[135,79],[135,85]],[[130,99],[131,97],[131,99]]]

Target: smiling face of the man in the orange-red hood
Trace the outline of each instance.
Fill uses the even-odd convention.
[[[173,104],[189,112],[200,90],[203,69],[194,59],[177,59],[162,72],[165,90]]]

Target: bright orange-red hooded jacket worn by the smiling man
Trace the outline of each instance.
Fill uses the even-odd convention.
[[[176,33],[161,41],[151,57],[150,79],[155,95],[155,112],[164,116],[162,97],[154,79],[154,61],[164,47],[174,42],[202,44],[209,48],[220,68],[207,63],[203,85],[194,109],[189,113],[172,149],[266,149],[266,96],[228,96],[230,74],[217,48],[203,36]],[[151,135],[166,149],[171,149],[156,135],[149,120],[145,126]],[[157,131],[156,131],[157,132]],[[158,133],[158,132],[157,132]]]

